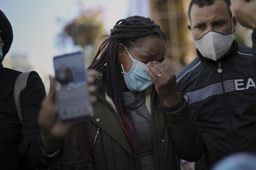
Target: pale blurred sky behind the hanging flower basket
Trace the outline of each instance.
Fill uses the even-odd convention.
[[[53,73],[52,57],[79,50],[72,44],[65,48],[56,45],[57,35],[65,21],[78,16],[78,0],[1,0],[1,10],[9,19],[14,39],[10,54],[29,56],[30,63],[38,69]],[[104,24],[109,33],[117,20],[128,14],[126,0],[83,0],[86,8],[98,5],[105,9]],[[57,22],[58,18],[62,22]],[[63,22],[64,21],[64,22]]]

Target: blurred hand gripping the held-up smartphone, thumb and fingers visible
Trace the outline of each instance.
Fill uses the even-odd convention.
[[[91,102],[94,104],[97,102],[95,96],[94,77],[96,75],[95,70],[87,71],[88,91],[91,95]],[[54,152],[61,145],[65,136],[69,133],[75,124],[67,123],[62,124],[58,121],[57,106],[55,104],[54,96],[54,78],[49,76],[50,90],[48,96],[43,100],[42,106],[39,112],[38,124],[41,128],[41,142],[45,152]]]

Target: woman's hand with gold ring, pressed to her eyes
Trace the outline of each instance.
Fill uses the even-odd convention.
[[[146,72],[155,84],[165,106],[173,106],[178,100],[176,76],[171,68],[157,61],[147,63]]]

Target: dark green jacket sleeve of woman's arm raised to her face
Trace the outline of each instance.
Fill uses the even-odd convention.
[[[189,162],[197,161],[202,156],[204,140],[186,100],[179,95],[174,106],[166,107],[162,102],[160,105],[165,112],[178,157]]]

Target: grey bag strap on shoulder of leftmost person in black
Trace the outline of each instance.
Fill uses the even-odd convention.
[[[14,101],[15,101],[15,106],[16,110],[18,112],[19,120],[21,120],[21,123],[23,124],[23,117],[22,117],[22,112],[21,112],[21,93],[25,89],[27,85],[27,78],[29,77],[29,74],[31,71],[21,73],[15,82],[14,85]]]

